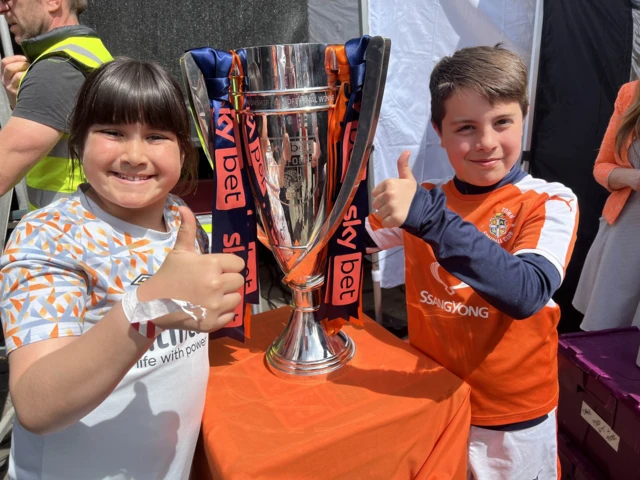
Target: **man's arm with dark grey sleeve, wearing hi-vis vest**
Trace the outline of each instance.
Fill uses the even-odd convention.
[[[16,108],[0,130],[0,195],[17,184],[67,131],[83,82],[84,74],[67,60],[50,58],[31,68]]]

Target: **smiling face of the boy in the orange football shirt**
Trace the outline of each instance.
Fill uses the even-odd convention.
[[[465,89],[445,103],[442,130],[434,125],[456,176],[478,187],[498,183],[522,149],[523,115],[518,102],[491,105]]]

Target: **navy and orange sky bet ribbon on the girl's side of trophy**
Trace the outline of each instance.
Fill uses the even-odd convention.
[[[208,141],[213,161],[213,211],[211,253],[233,253],[247,265],[244,272],[242,302],[235,318],[216,336],[229,336],[244,341],[250,337],[250,308],[259,303],[257,280],[256,223],[251,188],[242,157],[238,124],[233,105],[229,101],[230,73],[243,72],[241,55],[203,47],[190,50],[207,86],[211,106],[211,135]],[[242,74],[242,73],[241,73]]]

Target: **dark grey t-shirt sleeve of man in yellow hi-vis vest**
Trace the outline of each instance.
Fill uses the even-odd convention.
[[[65,58],[46,58],[27,73],[13,116],[69,132],[69,114],[85,76]]]

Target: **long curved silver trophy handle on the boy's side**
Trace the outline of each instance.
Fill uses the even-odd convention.
[[[338,192],[334,208],[322,223],[322,226],[319,227],[318,233],[314,232],[312,235],[314,240],[309,245],[307,253],[285,275],[284,283],[295,283],[295,278],[299,277],[302,272],[313,270],[313,264],[320,258],[320,250],[327,245],[347,213],[347,208],[353,201],[360,179],[367,168],[367,162],[373,147],[373,138],[378,125],[382,96],[387,79],[390,50],[391,40],[388,38],[375,36],[369,40],[365,57],[366,71],[362,89],[362,101],[360,103],[358,131],[344,182]]]

